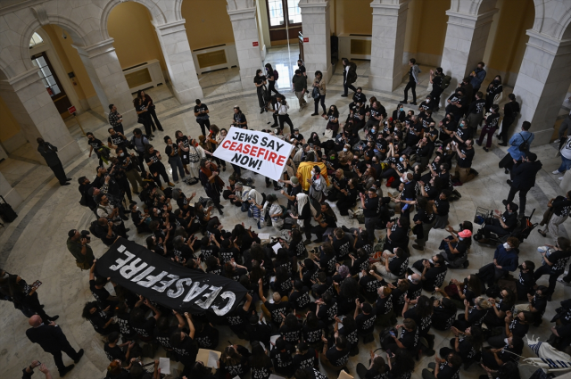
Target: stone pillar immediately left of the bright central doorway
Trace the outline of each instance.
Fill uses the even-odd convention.
[[[256,70],[262,68],[256,6],[253,0],[228,0],[226,8],[234,30],[242,88],[251,90]]]

